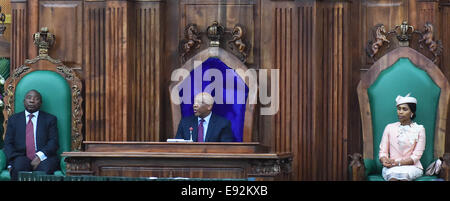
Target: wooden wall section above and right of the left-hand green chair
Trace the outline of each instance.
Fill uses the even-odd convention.
[[[85,85],[85,140],[159,141],[161,5],[148,1],[13,1],[12,69],[37,55],[31,34],[56,35],[49,55]]]

